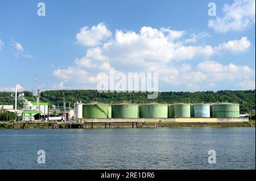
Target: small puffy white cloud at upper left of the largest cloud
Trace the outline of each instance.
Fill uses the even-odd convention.
[[[106,28],[104,23],[99,23],[97,26],[89,27],[85,26],[80,29],[80,32],[76,34],[76,40],[78,43],[85,46],[94,46],[100,44],[100,41],[110,37],[112,32]]]

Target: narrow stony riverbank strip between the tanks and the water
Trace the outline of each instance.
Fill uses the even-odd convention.
[[[226,123],[177,123],[177,122],[138,122],[138,123],[13,123],[2,122],[0,129],[77,129],[77,128],[154,128],[154,127],[255,127],[255,121]]]

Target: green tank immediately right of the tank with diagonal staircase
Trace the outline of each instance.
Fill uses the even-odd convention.
[[[115,104],[112,105],[113,118],[138,118],[139,106],[136,104]]]

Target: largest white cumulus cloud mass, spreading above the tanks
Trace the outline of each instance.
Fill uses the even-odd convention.
[[[214,87],[221,80],[243,81],[253,75],[254,71],[246,65],[222,65],[207,60],[195,66],[189,62],[195,58],[205,60],[220,52],[243,52],[250,47],[247,37],[217,45],[187,45],[208,34],[192,34],[189,40],[183,39],[184,33],[152,27],[142,27],[138,33],[116,30],[108,41],[97,42],[98,46],[88,48],[84,57],[76,58],[75,65],[57,69],[53,75],[64,85],[84,87],[96,85],[100,80],[98,73],[109,73],[110,68],[126,74],[156,72],[159,85],[187,85],[189,90]]]

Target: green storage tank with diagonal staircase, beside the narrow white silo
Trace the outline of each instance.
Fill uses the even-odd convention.
[[[82,105],[83,118],[111,118],[111,106],[102,103],[90,103]]]

